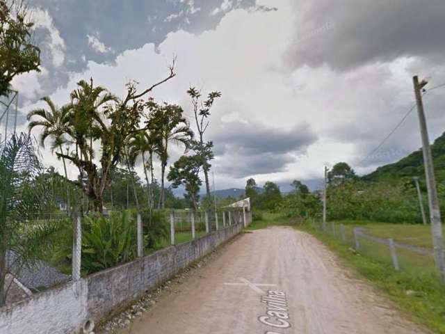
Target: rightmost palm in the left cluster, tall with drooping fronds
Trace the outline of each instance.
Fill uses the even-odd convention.
[[[151,101],[149,104],[150,117],[147,128],[154,133],[159,134],[160,149],[159,159],[161,160],[161,196],[159,196],[159,207],[165,208],[165,168],[168,163],[168,143],[184,144],[186,150],[193,138],[193,131],[191,130],[186,118],[184,118],[184,111],[176,104],[156,104]]]

